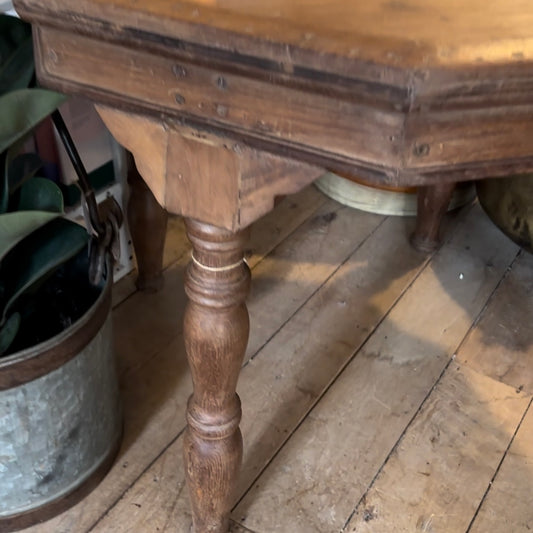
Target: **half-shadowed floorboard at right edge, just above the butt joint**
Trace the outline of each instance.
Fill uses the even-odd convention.
[[[459,354],[469,367],[533,392],[533,256],[522,253]]]

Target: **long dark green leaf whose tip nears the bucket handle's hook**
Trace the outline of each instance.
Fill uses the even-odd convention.
[[[11,250],[2,265],[7,294],[0,323],[21,294],[78,253],[87,241],[85,228],[58,218]]]

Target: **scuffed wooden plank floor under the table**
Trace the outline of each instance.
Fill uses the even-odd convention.
[[[120,456],[25,531],[189,531],[189,250],[171,226],[164,291],[115,287]],[[409,247],[412,226],[308,188],[253,228],[234,532],[533,530],[533,257],[478,205],[448,216],[432,257]]]

